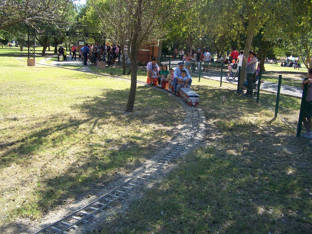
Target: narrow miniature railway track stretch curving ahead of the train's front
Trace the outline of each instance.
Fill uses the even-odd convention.
[[[181,152],[183,152],[193,140],[193,137],[196,135],[198,131],[198,127],[200,124],[200,117],[198,113],[198,109],[196,107],[191,107],[192,110],[192,121],[188,126],[186,134],[178,141],[178,143],[168,152],[156,160],[149,167],[139,172],[123,184],[120,184],[115,189],[112,189],[109,193],[106,193],[104,196],[98,198],[92,203],[86,205],[83,208],[67,215],[66,217],[50,224],[42,228],[40,231],[35,232],[34,234],[46,234],[46,233],[54,233],[54,234],[67,234],[68,230],[71,228],[77,229],[79,228],[79,224],[81,222],[87,223],[88,219],[94,218],[97,213],[104,210],[105,208],[109,208],[114,203],[116,203],[119,199],[125,197],[132,190],[142,185],[144,182],[150,179],[155,173],[162,170],[166,165],[168,165],[174,158],[176,158]]]

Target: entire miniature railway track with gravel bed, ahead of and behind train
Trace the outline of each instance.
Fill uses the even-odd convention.
[[[46,65],[46,64],[42,64]],[[53,66],[53,65],[47,65]],[[55,67],[55,66],[54,66]],[[58,65],[58,67],[61,67]],[[61,67],[62,68],[62,67]],[[64,68],[67,69],[67,68]],[[92,74],[98,74],[96,72],[92,72],[89,68],[82,70],[76,69],[79,71],[84,71]],[[107,76],[107,75],[105,75]],[[116,77],[119,79],[126,79],[123,77]],[[146,84],[145,82],[138,81],[138,83]],[[183,102],[184,103],[184,102]],[[35,232],[34,234],[67,234],[70,229],[78,229],[82,223],[88,223],[90,219],[95,218],[98,213],[104,211],[107,208],[110,208],[114,204],[117,203],[119,199],[126,198],[127,194],[131,193],[134,189],[138,188],[140,185],[144,184],[146,181],[159,173],[162,169],[164,169],[170,162],[177,158],[178,155],[181,155],[184,151],[188,149],[192,145],[192,141],[196,138],[198,141],[199,131],[203,133],[204,125],[202,117],[203,114],[199,112],[197,107],[190,107],[184,103],[187,109],[187,118],[190,119],[188,122],[188,126],[185,127],[183,131],[183,135],[177,137],[172,144],[171,147],[167,147],[166,151],[163,152],[162,156],[158,157],[153,163],[147,166],[145,169],[139,171],[137,174],[132,176],[130,179],[126,180],[122,184],[115,186],[115,189],[110,190],[110,192],[106,193],[103,196],[100,196],[95,201],[85,205],[82,208],[78,208],[76,211],[67,215],[66,217],[61,218],[60,220],[47,225],[41,230]],[[202,134],[201,133],[201,134]],[[199,134],[200,135],[200,134]],[[195,144],[195,143],[194,143]]]

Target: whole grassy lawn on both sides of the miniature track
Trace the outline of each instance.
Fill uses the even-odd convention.
[[[185,117],[157,89],[138,84],[129,114],[128,81],[27,67],[15,57],[0,62],[0,214],[12,225],[134,170],[173,139]],[[111,71],[120,74],[101,72]],[[138,80],[146,81],[145,71]],[[312,232],[311,151],[273,112],[224,85],[193,80],[207,122],[200,145],[95,233]]]

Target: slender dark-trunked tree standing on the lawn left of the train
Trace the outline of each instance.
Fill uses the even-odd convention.
[[[92,1],[92,0],[90,0]],[[126,112],[133,112],[136,81],[137,81],[137,60],[139,49],[146,43],[155,42],[159,39],[160,26],[167,21],[173,20],[172,16],[163,17],[167,12],[182,12],[184,7],[189,6],[189,0],[113,0],[110,1],[110,9],[118,9],[125,15],[123,24],[125,29],[122,33],[126,35],[128,45],[130,45],[130,61],[131,61],[131,85]],[[121,6],[121,7],[120,7]],[[183,6],[183,7],[181,7]],[[167,14],[168,15],[168,14]],[[100,14],[98,14],[101,17]],[[113,22],[119,15],[108,14],[105,18],[107,21]],[[108,17],[112,17],[108,19]],[[103,28],[105,25],[103,25]],[[120,31],[120,29],[119,29]],[[109,37],[115,36],[115,31],[107,31]],[[118,34],[120,35],[120,33]],[[116,38],[119,39],[119,38]],[[121,40],[123,40],[121,38]],[[120,41],[121,41],[120,40]],[[119,40],[118,40],[119,41]]]

